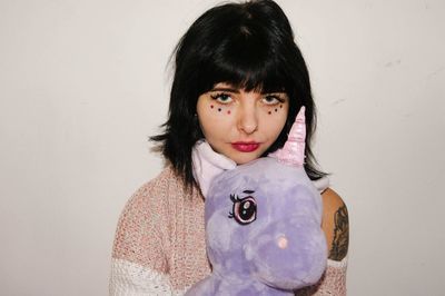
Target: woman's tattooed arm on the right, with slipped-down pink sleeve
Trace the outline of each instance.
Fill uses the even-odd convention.
[[[332,189],[323,195],[322,228],[326,236],[327,268],[317,285],[298,290],[296,295],[346,295],[347,251],[349,246],[349,218],[343,199]]]

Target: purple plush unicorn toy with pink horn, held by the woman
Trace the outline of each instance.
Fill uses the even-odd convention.
[[[322,198],[303,167],[304,107],[284,148],[216,176],[205,205],[211,274],[186,295],[294,295],[323,275]]]

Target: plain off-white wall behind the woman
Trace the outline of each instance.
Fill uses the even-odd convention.
[[[1,295],[107,295],[118,215],[161,168],[169,53],[216,2],[0,0]],[[349,208],[349,295],[443,294],[445,2],[278,2]]]

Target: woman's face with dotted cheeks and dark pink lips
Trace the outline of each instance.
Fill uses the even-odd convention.
[[[246,92],[224,82],[199,96],[197,102],[206,140],[238,165],[260,157],[275,142],[288,110],[285,92]]]

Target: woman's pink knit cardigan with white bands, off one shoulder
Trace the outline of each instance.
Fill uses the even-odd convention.
[[[110,295],[182,295],[210,273],[204,198],[167,167],[128,200],[118,223]],[[296,295],[346,295],[346,258],[328,260],[320,282]]]

